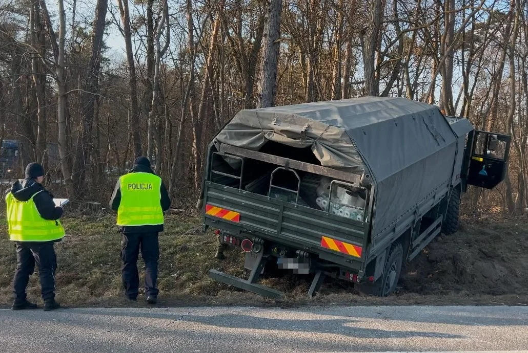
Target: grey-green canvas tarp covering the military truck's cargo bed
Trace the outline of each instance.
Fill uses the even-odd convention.
[[[457,133],[437,107],[391,97],[242,110],[216,140],[257,151],[268,141],[310,146],[324,166],[369,172],[373,243],[431,192],[449,188],[457,159]]]

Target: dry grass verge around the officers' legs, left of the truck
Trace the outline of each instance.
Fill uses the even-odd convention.
[[[57,299],[68,306],[125,303],[121,299],[120,234],[115,217],[83,216],[66,218],[62,223],[67,236],[55,246],[58,258]],[[209,269],[232,268],[237,270],[230,273],[243,274],[242,254],[232,251],[229,259],[221,263],[214,259],[214,234],[202,234],[199,223],[196,218],[167,217],[166,231],[160,234],[159,239],[158,287],[161,297],[202,302],[204,296],[217,295],[223,290],[220,283],[207,276]],[[6,306],[12,299],[11,281],[16,253],[14,244],[8,240],[4,217],[0,231],[0,306]],[[142,266],[143,262],[139,259],[140,277],[143,276]],[[40,297],[37,273],[31,277],[27,292],[32,299]]]

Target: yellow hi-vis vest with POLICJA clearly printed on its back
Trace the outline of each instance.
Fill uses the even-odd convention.
[[[151,173],[128,173],[119,178],[121,202],[117,225],[163,224],[161,206],[162,178]]]

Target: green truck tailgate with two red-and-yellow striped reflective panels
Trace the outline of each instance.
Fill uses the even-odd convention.
[[[366,256],[368,223],[211,182],[205,184],[205,203],[240,214],[234,221],[205,214],[205,224],[233,235],[303,249],[354,270],[361,269]]]

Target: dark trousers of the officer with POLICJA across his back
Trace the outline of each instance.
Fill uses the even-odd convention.
[[[128,298],[136,298],[139,287],[137,258],[141,255],[145,261],[145,295],[157,296],[159,243],[158,233],[123,233],[121,240],[121,271],[125,293]]]

